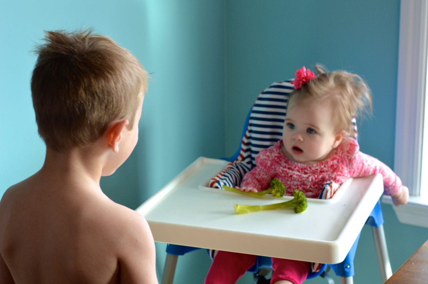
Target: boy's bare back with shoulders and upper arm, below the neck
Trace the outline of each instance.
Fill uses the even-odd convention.
[[[143,217],[40,173],[3,196],[0,244],[16,283],[157,283]]]

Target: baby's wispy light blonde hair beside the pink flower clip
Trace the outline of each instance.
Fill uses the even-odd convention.
[[[293,97],[312,102],[327,100],[334,108],[333,120],[337,131],[345,130],[347,135],[352,135],[352,119],[372,112],[369,87],[360,76],[344,70],[328,72],[320,64],[315,65],[315,70],[318,76],[291,92],[288,101]]]

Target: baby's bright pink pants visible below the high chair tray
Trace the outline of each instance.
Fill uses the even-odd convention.
[[[205,284],[235,284],[255,263],[255,255],[219,251],[205,278]],[[294,284],[301,284],[308,276],[310,263],[272,258],[272,269],[271,284],[279,280],[288,280]]]

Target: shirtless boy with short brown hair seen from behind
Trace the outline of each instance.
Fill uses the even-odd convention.
[[[158,283],[146,220],[101,191],[138,140],[147,72],[108,37],[46,32],[31,79],[42,168],[0,202],[0,283]]]

